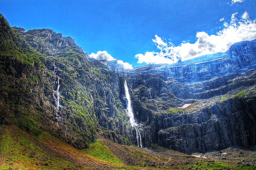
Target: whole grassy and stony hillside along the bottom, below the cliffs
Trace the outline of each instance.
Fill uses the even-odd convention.
[[[224,154],[210,152],[206,154],[207,157],[209,156],[208,159],[205,159],[157,146],[146,150],[135,146],[119,145],[108,140],[99,140],[92,143],[89,149],[78,150],[47,132],[32,136],[13,125],[1,126],[0,132],[0,169],[2,170],[256,168],[251,166],[255,163],[256,155],[242,149],[233,148],[229,149],[229,152],[223,150]],[[232,154],[239,156],[236,158]],[[228,160],[222,160],[223,155],[228,157]]]

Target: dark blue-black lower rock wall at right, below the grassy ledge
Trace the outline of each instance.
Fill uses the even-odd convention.
[[[255,94],[252,90],[246,97],[230,98],[200,110],[165,114],[157,143],[186,153],[255,145]]]

